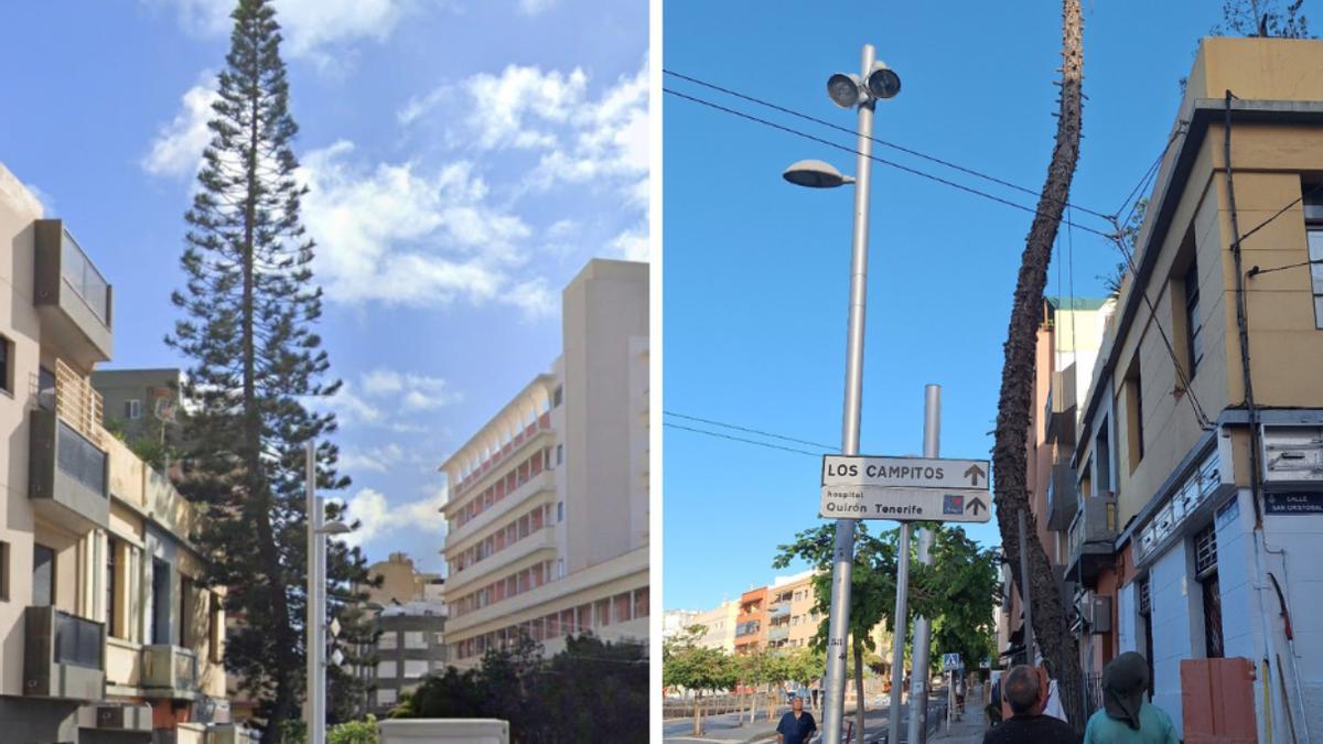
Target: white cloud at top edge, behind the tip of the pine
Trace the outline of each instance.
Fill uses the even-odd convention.
[[[233,24],[234,0],[156,1],[172,3],[184,29],[196,36],[224,36]],[[451,0],[274,0],[286,54],[318,65],[335,61],[329,46],[386,41],[401,19],[426,5],[454,8]]]

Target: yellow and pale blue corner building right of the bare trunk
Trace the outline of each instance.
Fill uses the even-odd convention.
[[[1319,41],[1203,41],[1081,401],[1082,662],[1143,653],[1187,740],[1323,731],[1320,69]]]

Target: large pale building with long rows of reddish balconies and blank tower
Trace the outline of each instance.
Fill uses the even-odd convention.
[[[648,634],[648,267],[593,259],[564,351],[442,465],[447,661]]]

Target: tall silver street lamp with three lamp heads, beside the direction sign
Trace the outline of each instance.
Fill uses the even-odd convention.
[[[877,61],[873,45],[865,44],[861,74],[836,73],[827,78],[827,95],[841,109],[859,110],[859,160],[855,177],[844,176],[820,160],[800,160],[782,173],[787,181],[808,188],[835,188],[853,183],[855,233],[849,266],[849,319],[845,331],[845,396],[841,414],[844,455],[859,454],[860,406],[864,396],[864,301],[868,291],[868,185],[873,158],[873,106],[901,90],[901,78]],[[901,523],[901,544],[909,545],[909,523]],[[845,638],[849,631],[849,589],[855,564],[855,522],[836,520],[832,553],[831,614],[827,621],[827,674],[823,703],[823,741],[840,741],[845,707]],[[908,561],[909,551],[901,551]],[[900,596],[900,590],[897,590]],[[897,600],[900,604],[900,600]],[[896,617],[904,617],[901,609]],[[893,700],[897,698],[893,696]],[[898,716],[892,711],[892,741],[898,741]]]

